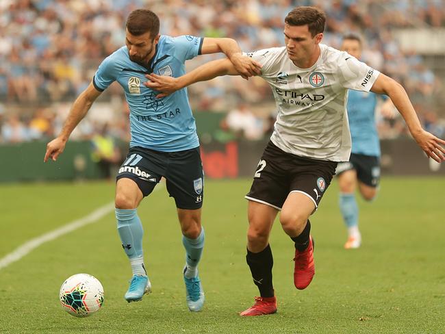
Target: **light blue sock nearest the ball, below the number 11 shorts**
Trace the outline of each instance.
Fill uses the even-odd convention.
[[[142,223],[136,209],[117,209],[116,220],[120,241],[131,263],[133,275],[147,275],[142,251]]]

